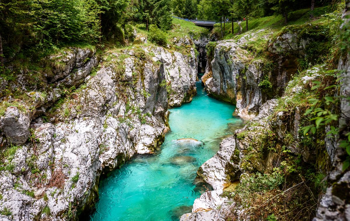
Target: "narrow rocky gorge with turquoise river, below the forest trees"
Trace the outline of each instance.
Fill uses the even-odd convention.
[[[6,57],[0,220],[350,220],[349,10]]]

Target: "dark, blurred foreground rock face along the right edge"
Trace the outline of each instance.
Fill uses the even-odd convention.
[[[346,0],[346,8],[343,14],[341,32],[349,31],[350,1]],[[340,137],[338,143],[346,140],[345,134],[350,131],[350,103],[346,98],[350,97],[350,55],[339,59],[338,70],[345,70],[342,73],[341,94],[341,115],[339,118]],[[337,147],[332,169],[328,177],[326,193],[318,206],[314,221],[323,220],[350,220],[350,171],[349,168],[343,171],[344,159],[349,157],[344,148]]]

